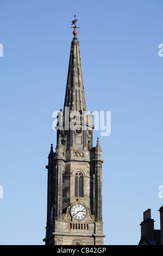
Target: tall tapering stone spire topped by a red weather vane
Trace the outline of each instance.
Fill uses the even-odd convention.
[[[77,21],[77,20],[76,20]],[[74,23],[76,25],[76,23]],[[76,31],[74,26],[74,31]],[[68,67],[65,107],[69,107],[69,111],[86,111],[82,62],[80,57],[79,41],[74,33],[74,38],[71,42],[70,62]]]

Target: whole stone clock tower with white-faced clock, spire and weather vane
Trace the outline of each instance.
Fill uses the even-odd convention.
[[[46,245],[103,245],[102,149],[92,145],[79,41],[71,42],[64,110],[58,113],[57,146],[48,155]]]

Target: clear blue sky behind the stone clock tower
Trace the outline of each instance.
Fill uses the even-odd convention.
[[[1,0],[0,244],[43,245],[52,113],[64,107],[78,19],[87,110],[111,111],[103,150],[105,245],[137,245],[143,211],[160,228],[161,0]]]

